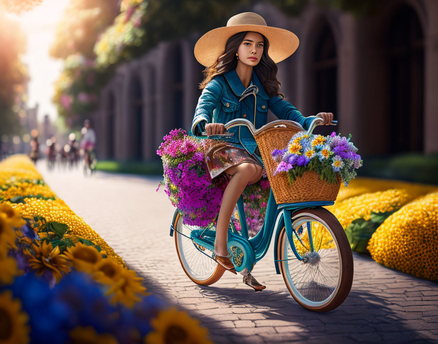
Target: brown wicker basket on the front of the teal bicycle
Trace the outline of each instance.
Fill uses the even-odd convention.
[[[277,122],[277,121],[276,121]],[[285,123],[282,121],[282,123]],[[306,201],[334,201],[339,193],[341,177],[336,176],[337,183],[329,184],[321,180],[318,173],[305,171],[300,178],[289,184],[286,173],[278,173],[274,176],[277,162],[272,158],[274,149],[282,150],[289,143],[293,135],[303,130],[297,125],[282,124],[258,130],[254,137],[262,153],[266,174],[271,184],[277,204],[295,203]]]

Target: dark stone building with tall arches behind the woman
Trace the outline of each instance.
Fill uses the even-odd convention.
[[[304,116],[332,112],[339,125],[329,129],[351,133],[363,155],[438,152],[438,1],[387,0],[362,18],[314,4],[294,18],[268,3],[252,11],[300,39],[277,77]],[[163,135],[190,128],[201,34],[162,42],[118,67],[94,115],[101,159],[156,159]]]

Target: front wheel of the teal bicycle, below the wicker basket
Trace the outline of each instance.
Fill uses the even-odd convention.
[[[285,227],[278,257],[287,289],[304,308],[327,312],[348,296],[353,255],[344,229],[327,209],[303,209],[292,215],[294,254]]]

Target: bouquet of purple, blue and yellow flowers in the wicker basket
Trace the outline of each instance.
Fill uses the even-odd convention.
[[[356,176],[355,169],[362,166],[357,148],[348,138],[336,135],[333,131],[329,136],[306,134],[299,131],[282,150],[272,151],[274,160],[278,162],[274,175],[287,172],[288,180],[292,183],[303,173],[315,171],[321,179],[330,184],[336,183],[336,172],[339,172],[344,185],[347,186]]]

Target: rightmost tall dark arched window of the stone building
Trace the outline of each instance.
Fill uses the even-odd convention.
[[[390,151],[423,151],[424,40],[410,6],[394,12],[387,47]]]

